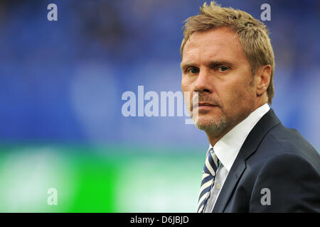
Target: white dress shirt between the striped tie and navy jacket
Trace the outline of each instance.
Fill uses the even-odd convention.
[[[218,140],[213,147],[210,145],[208,152],[211,149],[214,150],[215,155],[217,155],[218,159],[220,160],[220,165],[215,174],[215,181],[213,187],[211,187],[208,202],[206,207],[203,209],[204,213],[211,213],[213,211],[215,201],[220,194],[225,179],[227,178],[228,173],[233,166],[233,162],[235,162],[235,158],[237,157],[242,144],[245,143],[245,139],[247,138],[247,135],[249,135],[252,128],[255,127],[257,122],[260,121],[262,116],[267,114],[267,111],[269,110],[270,106],[268,104],[260,106],[249,116],[247,116],[245,120],[238,123],[237,126],[225,134],[223,138],[220,138],[220,140]]]

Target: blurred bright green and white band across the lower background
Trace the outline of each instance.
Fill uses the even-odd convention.
[[[1,146],[0,212],[194,212],[202,162],[194,150]]]

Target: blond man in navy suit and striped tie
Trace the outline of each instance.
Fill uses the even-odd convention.
[[[263,23],[211,2],[183,35],[181,87],[210,142],[197,211],[319,212],[319,153],[269,106],[274,53]]]

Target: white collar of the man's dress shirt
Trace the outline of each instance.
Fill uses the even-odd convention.
[[[260,121],[262,116],[267,114],[267,111],[269,110],[270,106],[268,104],[260,106],[249,116],[247,116],[245,120],[238,123],[237,126],[225,134],[223,138],[220,138],[220,140],[218,140],[213,147],[210,145],[208,152],[209,150],[213,149],[215,155],[217,155],[218,159],[222,165],[225,166],[228,172],[230,172],[230,169],[240,151],[240,148],[242,147],[242,144],[245,143],[247,135],[249,135],[252,128],[255,127],[256,123]]]

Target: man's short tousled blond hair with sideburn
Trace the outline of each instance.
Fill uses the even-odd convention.
[[[263,65],[271,66],[270,84],[267,88],[268,103],[272,103],[274,96],[273,75],[274,75],[274,53],[266,26],[253,18],[245,11],[221,7],[210,2],[200,8],[200,14],[186,19],[183,26],[183,40],[181,43],[181,56],[183,47],[190,36],[196,31],[206,31],[214,28],[227,27],[238,34],[242,50],[250,63],[251,74],[255,75]]]

